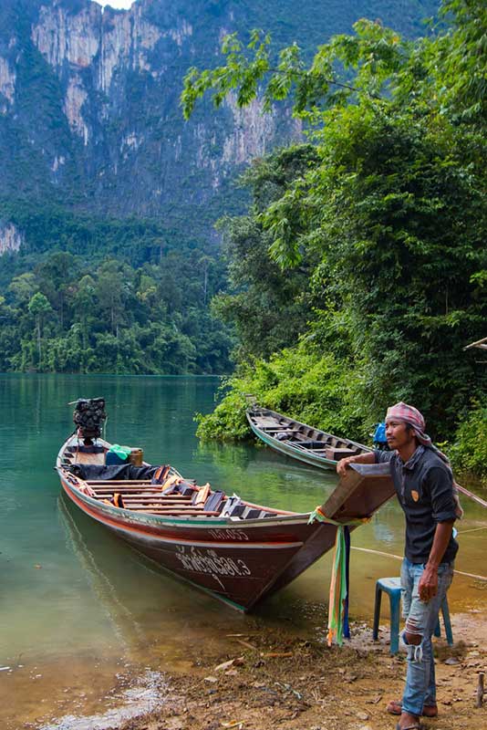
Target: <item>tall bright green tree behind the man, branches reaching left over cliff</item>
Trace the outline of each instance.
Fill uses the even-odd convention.
[[[258,220],[287,276],[313,263],[311,287],[325,306],[308,347],[351,359],[364,420],[407,399],[444,437],[487,390],[485,372],[462,352],[487,315],[486,11],[451,0],[442,12],[436,35],[416,42],[360,20],[309,66],[296,46],[275,61],[261,31],[247,47],[228,36],[223,66],[190,69],[181,103],[189,117],[206,92],[217,106],[230,92],[241,106],[261,95],[269,110],[291,99],[318,161]],[[270,266],[264,256],[261,276]]]

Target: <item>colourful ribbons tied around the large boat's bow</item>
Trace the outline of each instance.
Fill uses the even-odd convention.
[[[349,520],[347,523],[327,517],[316,507],[308,519],[308,525],[315,521],[327,522],[337,526],[337,537],[335,538],[335,552],[333,555],[333,568],[330,582],[330,596],[328,608],[328,646],[331,646],[335,636],[339,646],[343,638],[350,638],[348,626],[348,582],[350,566],[350,526],[363,525],[369,521],[369,517],[361,517]]]

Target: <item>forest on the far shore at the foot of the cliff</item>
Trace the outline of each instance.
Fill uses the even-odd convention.
[[[224,284],[214,248],[181,245],[158,221],[25,203],[7,213],[28,245],[0,256],[0,370],[230,369],[230,331],[208,308]]]

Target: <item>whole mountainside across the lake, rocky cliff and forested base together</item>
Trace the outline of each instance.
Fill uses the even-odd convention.
[[[230,330],[209,310],[227,287],[213,226],[244,212],[238,173],[299,141],[303,120],[231,94],[185,122],[182,78],[214,65],[233,31],[265,26],[311,57],[364,15],[417,36],[436,6],[137,0],[102,12],[91,0],[4,0],[0,368],[230,370]]]

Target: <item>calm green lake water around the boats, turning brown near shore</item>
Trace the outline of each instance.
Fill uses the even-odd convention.
[[[139,704],[157,703],[161,674],[191,667],[205,646],[221,644],[225,651],[231,632],[285,625],[287,631],[325,635],[330,554],[244,616],[152,567],[60,495],[53,465],[73,430],[68,403],[103,396],[107,439],[142,446],[153,464],[171,463],[199,483],[260,504],[296,511],[321,504],[337,483],[333,472],[254,445],[198,443],[193,414],[212,410],[218,384],[210,377],[0,375],[5,730],[104,727],[107,707],[123,703],[135,712]],[[470,575],[456,576],[452,611],[482,609],[485,597],[485,584],[473,576],[487,573],[487,514],[466,499],[463,506],[456,568]],[[399,574],[392,556],[401,555],[403,530],[392,500],[354,532],[352,620],[370,622],[376,579]],[[79,719],[84,715],[89,719]]]

